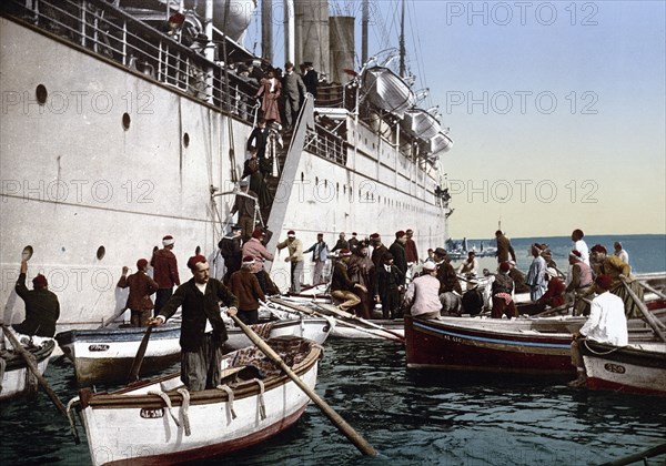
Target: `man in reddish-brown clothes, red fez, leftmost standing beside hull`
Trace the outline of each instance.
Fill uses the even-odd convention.
[[[145,327],[151,317],[153,303],[150,295],[160,288],[158,282],[148,275],[148,261],[137,261],[137,273],[128,276],[129,267],[122,267],[122,276],[118,287],[130,288],[125,308],[131,311],[130,323],[135,327]]]

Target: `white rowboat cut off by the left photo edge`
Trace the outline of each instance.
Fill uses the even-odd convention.
[[[2,334],[0,333],[0,337]],[[40,374],[43,374],[49,365],[49,357],[56,348],[54,340],[47,340],[39,346],[24,346],[26,351],[34,356]],[[37,378],[27,366],[23,356],[13,351],[4,351],[0,354],[0,399],[34,393],[37,391]]]

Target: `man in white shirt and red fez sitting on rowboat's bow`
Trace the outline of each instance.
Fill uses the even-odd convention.
[[[628,344],[627,318],[625,316],[622,298],[609,293],[613,286],[613,277],[599,275],[595,280],[597,297],[592,300],[589,317],[583,327],[572,336],[572,365],[576,367],[578,377],[569,382],[571,387],[581,387],[587,383],[583,355],[581,354],[581,342],[585,338],[598,343],[607,343],[614,346]]]

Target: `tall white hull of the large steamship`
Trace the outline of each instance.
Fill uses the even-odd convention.
[[[230,200],[213,204],[211,186],[232,190],[230,141],[240,170],[251,125],[230,125],[206,102],[11,18],[0,34],[4,322],[23,318],[13,283],[28,245],[29,278],[44,274],[60,300],[58,332],[99,326],[122,308],[122,266],[150,259],[167,234],[175,237],[181,281],[189,280],[188,257],[211,254],[222,235],[215,209],[224,220]],[[44,104],[36,100],[40,85]],[[333,243],[340,231],[380,232],[391,243],[407,227],[420,254],[443,245],[447,210],[435,205],[434,168],[352,116],[347,126],[344,164],[306,148],[276,193],[284,221],[269,227],[281,239],[293,229],[306,246],[317,232]],[[271,275],[286,290],[289,264],[272,252]]]

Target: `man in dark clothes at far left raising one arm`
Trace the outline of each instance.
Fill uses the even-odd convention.
[[[56,334],[56,322],[60,317],[60,303],[58,296],[49,291],[49,283],[42,274],[38,274],[32,280],[32,290],[28,290],[26,286],[27,273],[28,262],[23,260],[14,290],[26,303],[26,318],[20,324],[12,325],[12,330],[21,335],[33,337],[33,343],[39,344],[40,338],[34,338],[34,336],[52,337]],[[19,341],[21,341],[21,335],[17,335]]]

